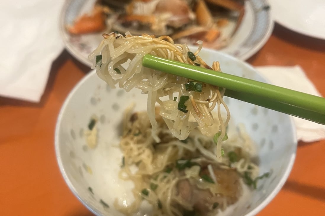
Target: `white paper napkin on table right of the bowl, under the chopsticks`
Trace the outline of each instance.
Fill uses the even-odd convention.
[[[273,85],[322,97],[299,65],[290,67],[260,66],[256,69]],[[293,117],[293,120],[296,125],[298,140],[314,142],[325,139],[324,125],[297,117]]]

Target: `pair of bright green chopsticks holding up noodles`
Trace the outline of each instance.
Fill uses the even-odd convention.
[[[325,98],[323,97],[149,54],[144,56],[142,65],[220,86],[226,88],[225,96],[325,125]]]

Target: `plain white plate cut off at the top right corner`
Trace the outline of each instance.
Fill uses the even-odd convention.
[[[325,40],[324,0],[271,0],[276,22],[295,32]]]

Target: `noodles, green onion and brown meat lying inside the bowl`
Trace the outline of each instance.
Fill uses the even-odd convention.
[[[156,108],[156,112],[159,112],[159,108]],[[197,208],[200,215],[214,215],[239,199],[241,174],[249,172],[252,178],[257,176],[258,167],[251,161],[251,155],[240,148],[243,143],[252,145],[249,137],[238,133],[236,139],[229,139],[224,144],[225,154],[237,152],[238,155],[238,161],[229,166],[229,157],[222,157],[221,163],[215,161],[212,137],[201,134],[195,128],[186,140],[181,141],[173,136],[161,116],[157,115],[156,121],[160,143],[155,143],[151,136],[151,124],[146,112],[133,113],[130,106],[124,113],[123,138],[120,142],[124,164],[119,177],[134,182],[132,192],[136,198],[133,203],[123,202],[122,205],[118,199],[115,200],[114,207],[125,215],[135,213],[142,199],[152,204],[152,215],[183,216],[184,212]],[[186,167],[183,169],[184,164]],[[133,165],[138,168],[136,172],[132,172]],[[204,173],[216,185],[202,181]],[[184,189],[181,186],[187,181],[193,188]],[[196,195],[203,193],[199,197],[207,197],[207,205],[197,207],[198,201],[182,195],[182,190],[198,191]],[[218,207],[213,209],[216,202]],[[200,211],[200,208],[203,210]]]

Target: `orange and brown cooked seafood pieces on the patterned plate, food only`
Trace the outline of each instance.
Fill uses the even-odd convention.
[[[71,34],[106,29],[170,35],[176,42],[203,40],[206,46],[220,49],[236,32],[244,13],[244,0],[102,0],[67,29]]]

